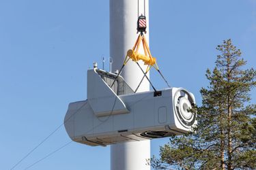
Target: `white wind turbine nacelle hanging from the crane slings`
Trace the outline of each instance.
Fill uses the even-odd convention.
[[[87,71],[87,100],[70,103],[64,124],[73,141],[89,146],[141,141],[191,131],[197,122],[188,109],[195,97],[184,88],[134,93],[121,76]]]

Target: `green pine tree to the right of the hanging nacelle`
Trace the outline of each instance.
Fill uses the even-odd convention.
[[[160,147],[156,169],[256,169],[256,105],[249,92],[256,86],[256,71],[244,69],[246,61],[231,39],[217,46],[213,71],[206,71],[210,85],[203,98],[194,132],[171,137]]]

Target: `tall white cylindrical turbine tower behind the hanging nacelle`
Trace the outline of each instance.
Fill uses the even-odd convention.
[[[110,56],[113,58],[112,70],[120,69],[127,50],[137,39],[137,18],[144,14],[147,18],[147,42],[149,42],[148,0],[109,0],[110,12]],[[145,4],[144,4],[145,2]],[[139,7],[138,7],[139,3]],[[142,46],[141,46],[142,47]],[[143,50],[140,51],[143,53]],[[142,62],[141,67],[146,69]],[[124,80],[135,90],[143,78],[143,73],[136,63],[129,61],[122,70]],[[149,75],[148,75],[149,76]],[[138,92],[150,90],[150,83],[145,78]],[[146,159],[150,158],[150,141],[134,141],[111,146],[111,170],[150,170]]]

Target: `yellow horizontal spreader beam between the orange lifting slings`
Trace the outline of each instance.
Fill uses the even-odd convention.
[[[154,65],[156,63],[156,58],[136,53],[131,49],[127,51],[127,56],[132,58],[132,61],[142,60],[145,65]]]

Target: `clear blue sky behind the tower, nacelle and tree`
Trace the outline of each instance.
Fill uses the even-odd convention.
[[[215,48],[229,38],[255,67],[256,0],[150,0],[152,54],[169,83],[193,92],[197,103]],[[59,126],[68,103],[86,98],[86,71],[102,54],[109,56],[109,1],[0,0],[0,169]],[[151,75],[157,88],[166,87]],[[256,90],[251,95],[256,103]],[[69,140],[61,127],[16,169]],[[152,154],[167,141],[153,140]],[[109,169],[109,150],[71,143],[31,169]]]

